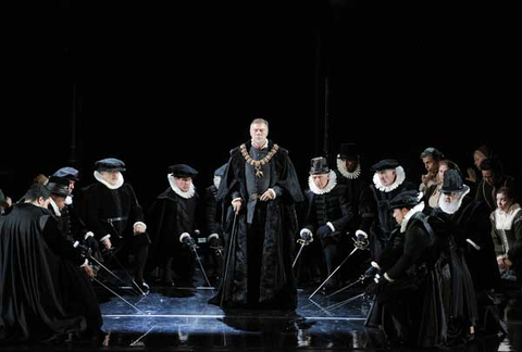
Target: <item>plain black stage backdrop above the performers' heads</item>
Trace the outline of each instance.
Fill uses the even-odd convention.
[[[424,1],[39,1],[4,12],[0,188],[114,156],[142,203],[166,166],[207,187],[254,117],[309,160],[356,141],[413,181],[437,147],[461,168],[482,142],[520,172],[514,11]],[[326,93],[327,91],[327,93]],[[326,98],[327,96],[327,98]],[[485,121],[485,122],[480,122]],[[325,142],[326,141],[326,142]]]

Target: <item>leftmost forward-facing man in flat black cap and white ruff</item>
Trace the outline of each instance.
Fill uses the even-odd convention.
[[[80,214],[108,253],[107,263],[113,268],[122,269],[121,266],[124,266],[136,286],[147,292],[149,286],[144,280],[144,271],[150,239],[134,188],[124,181],[122,175],[125,163],[108,158],[97,161],[95,167],[97,183],[84,189]]]

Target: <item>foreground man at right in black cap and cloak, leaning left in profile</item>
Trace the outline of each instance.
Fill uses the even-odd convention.
[[[398,227],[378,263],[372,262],[378,273],[366,289],[375,296],[366,324],[376,322],[391,345],[439,347],[447,326],[440,277],[434,269],[438,252],[422,213],[424,203],[419,202],[417,190],[403,191],[389,202]]]

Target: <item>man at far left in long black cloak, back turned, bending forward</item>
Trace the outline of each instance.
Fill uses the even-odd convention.
[[[49,197],[34,184],[0,217],[0,343],[101,336],[92,268],[61,235]]]

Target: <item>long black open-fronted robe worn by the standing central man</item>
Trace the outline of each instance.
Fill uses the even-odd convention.
[[[251,148],[246,143],[247,150]],[[273,142],[269,141],[269,150]],[[220,290],[210,302],[220,304],[223,297],[224,306],[247,306],[248,299],[248,255],[247,251],[247,212],[248,191],[246,184],[246,161],[240,148],[231,151],[225,174],[220,185],[217,200],[222,204],[225,243],[225,264]],[[270,161],[269,188],[281,191],[274,200],[266,202],[266,223],[264,224],[264,241],[257,250],[262,253],[259,273],[259,304],[273,309],[295,309],[297,306],[297,289],[291,269],[294,240],[297,231],[295,203],[302,201],[302,191],[288,151],[281,148]],[[237,215],[232,209],[233,198],[239,194],[244,200],[241,211]],[[231,235],[235,230],[235,240]],[[231,253],[232,255],[228,255]]]

